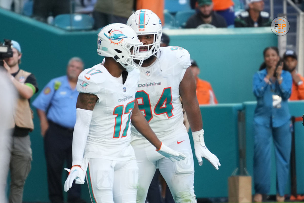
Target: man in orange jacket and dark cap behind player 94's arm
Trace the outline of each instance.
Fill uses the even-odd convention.
[[[209,82],[199,79],[199,67],[193,59],[190,66],[196,82],[196,97],[199,104],[217,104],[215,94]]]

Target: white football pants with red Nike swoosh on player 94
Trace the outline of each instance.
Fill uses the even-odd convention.
[[[169,139],[161,141],[171,149],[183,153],[186,156],[185,160],[172,162],[156,152],[155,147],[146,139],[131,142],[139,167],[137,203],[145,202],[157,166],[170,188],[175,203],[196,203],[193,186],[194,163],[188,133],[185,131],[168,137]]]

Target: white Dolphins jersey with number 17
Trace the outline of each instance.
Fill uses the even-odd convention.
[[[130,145],[130,117],[138,81],[137,69],[129,72],[122,84],[102,64],[85,69],[78,76],[78,92],[98,96],[84,157],[111,160],[134,158]]]

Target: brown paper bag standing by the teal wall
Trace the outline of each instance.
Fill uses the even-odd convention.
[[[228,178],[228,202],[252,202],[251,176],[230,176]]]

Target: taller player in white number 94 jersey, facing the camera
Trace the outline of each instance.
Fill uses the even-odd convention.
[[[181,47],[160,47],[161,21],[151,10],[142,9],[133,13],[127,25],[136,31],[143,43],[140,55],[144,56],[136,100],[152,130],[170,148],[183,153],[185,160],[171,162],[153,152],[153,146],[131,127],[131,145],[135,150],[139,167],[137,203],[144,203],[147,191],[158,167],[166,180],[176,203],[196,202],[194,194],[194,163],[189,136],[183,124],[180,102],[182,98],[188,115],[195,147],[195,156],[202,165],[206,158],[218,170],[219,159],[204,142],[202,115],[195,93],[195,80],[188,68],[190,54]]]

